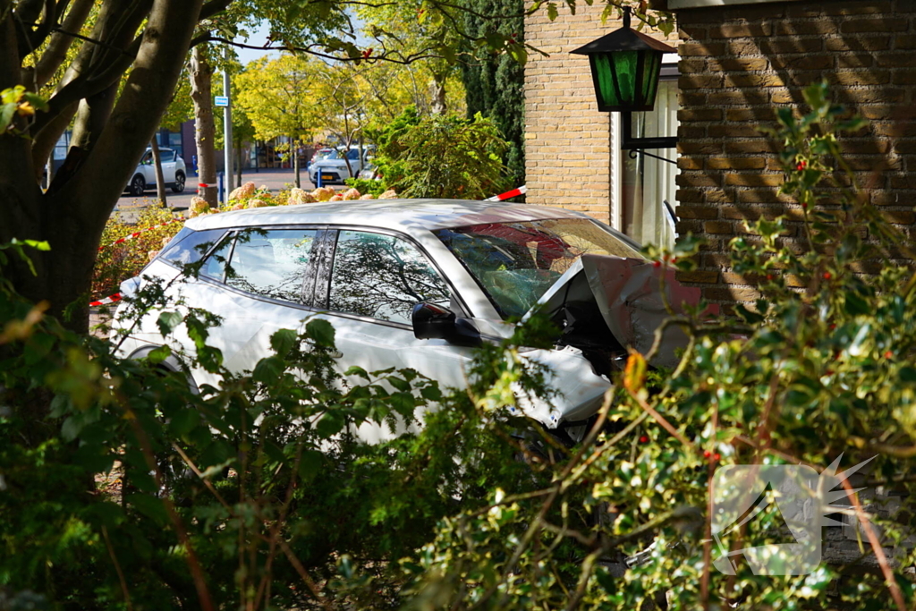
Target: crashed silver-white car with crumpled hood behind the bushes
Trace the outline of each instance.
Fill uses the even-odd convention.
[[[342,371],[410,367],[464,387],[472,346],[509,337],[511,321],[542,304],[562,336],[554,349],[522,354],[551,367],[561,394],[521,405],[570,432],[600,407],[622,346],[646,350],[657,322],[651,307],[645,318],[632,315],[643,289],[652,301],[659,286],[660,270],[637,245],[582,213],[534,205],[386,200],[207,214],[188,221],[141,276],[171,280],[201,260],[199,278],[177,279],[169,291],[223,317],[210,342],[234,371],[270,355],[278,329],[301,331],[304,319],[320,317],[333,324]],[[134,278],[122,290],[140,284]],[[141,357],[165,342],[157,318],[151,312],[137,325],[122,355]],[[169,342],[193,347],[179,331]],[[192,375],[198,386],[219,383]]]

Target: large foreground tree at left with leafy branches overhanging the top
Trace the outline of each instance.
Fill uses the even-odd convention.
[[[636,4],[613,2],[624,3]],[[449,6],[431,2],[421,18],[453,23]],[[24,84],[49,93],[47,112],[21,115],[16,134],[7,130],[0,137],[0,244],[33,239],[47,241],[50,249],[33,256],[34,273],[18,259],[4,273],[27,299],[47,301],[50,313],[82,332],[99,237],[169,105],[189,50],[207,41],[238,44],[213,33],[213,16],[228,8],[230,23],[267,19],[271,40],[278,41],[267,48],[354,63],[455,55],[444,36],[406,51],[392,48],[397,37],[387,36],[380,49],[367,53],[354,43],[345,0],[308,10],[267,0],[0,0],[0,8],[0,90]],[[518,47],[499,36],[487,44]],[[41,191],[45,161],[71,123],[68,156]]]

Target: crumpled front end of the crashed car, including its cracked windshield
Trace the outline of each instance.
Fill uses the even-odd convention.
[[[674,272],[652,265],[638,245],[587,217],[568,216],[440,229],[434,234],[474,278],[504,321],[535,311],[561,329],[555,349],[525,356],[551,369],[559,394],[526,400],[522,409],[548,428],[574,428],[600,407],[627,350],[649,352],[655,331],[699,289],[682,287]],[[685,337],[663,335],[654,366],[672,366]],[[573,438],[577,435],[573,435]]]

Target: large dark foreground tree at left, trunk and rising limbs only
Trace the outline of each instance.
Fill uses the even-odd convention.
[[[88,0],[0,3],[0,87],[27,82],[38,88],[64,71],[49,111],[24,126],[28,137],[0,137],[0,243],[19,238],[50,245],[32,257],[34,275],[19,262],[4,273],[27,298],[48,301],[49,311],[74,329],[86,329],[85,296],[99,237],[169,105],[194,27],[228,2],[154,0],[125,7],[104,0],[92,11],[93,22]],[[61,18],[72,29],[52,35]],[[65,66],[65,51],[77,44],[74,34],[88,39],[79,39]],[[38,179],[45,160],[71,121],[71,149],[42,192]]]

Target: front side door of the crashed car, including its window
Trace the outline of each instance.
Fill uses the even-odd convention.
[[[315,305],[333,324],[341,370],[412,368],[442,387],[464,387],[471,349],[413,334],[417,303],[455,307],[453,289],[420,247],[406,235],[375,229],[340,228],[328,240]],[[364,425],[359,435],[377,442],[393,431]]]

